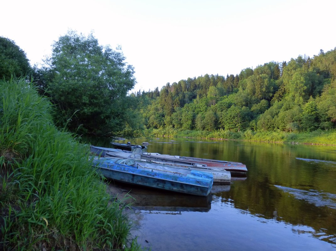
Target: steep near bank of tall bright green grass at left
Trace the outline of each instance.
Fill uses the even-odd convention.
[[[130,222],[91,167],[88,146],[55,128],[24,80],[0,81],[0,250],[135,250]]]

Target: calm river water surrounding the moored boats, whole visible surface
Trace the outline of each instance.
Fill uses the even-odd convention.
[[[336,251],[335,146],[149,142],[148,152],[242,162],[248,172],[207,198],[119,185],[135,198],[132,234],[144,248]]]

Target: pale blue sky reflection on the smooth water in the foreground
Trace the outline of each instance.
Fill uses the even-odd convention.
[[[334,237],[323,230],[239,209],[234,200],[221,197],[224,193],[212,195],[211,209],[206,213],[136,211],[132,233],[138,243],[153,251],[335,250],[336,245],[328,243]]]

